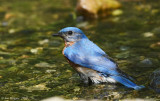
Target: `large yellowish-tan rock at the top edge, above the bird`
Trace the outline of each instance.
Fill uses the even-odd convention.
[[[86,18],[98,18],[99,15],[107,16],[110,10],[120,6],[121,4],[116,0],[79,0],[76,10]]]

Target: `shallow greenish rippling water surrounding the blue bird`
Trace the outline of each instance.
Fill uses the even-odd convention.
[[[121,15],[89,22],[76,22],[73,0],[0,2],[0,100],[160,98],[148,88],[150,73],[160,67],[159,1],[122,2]],[[81,26],[146,89],[82,84],[61,54],[63,40],[51,36],[67,26]]]

